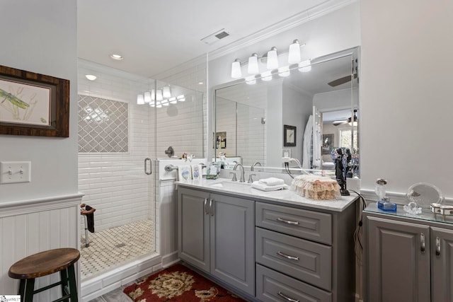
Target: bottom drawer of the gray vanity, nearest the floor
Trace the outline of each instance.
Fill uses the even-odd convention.
[[[332,301],[332,294],[285,274],[275,272],[273,269],[256,265],[256,298],[265,302],[330,302]]]

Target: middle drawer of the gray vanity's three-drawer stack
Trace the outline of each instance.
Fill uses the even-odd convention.
[[[256,262],[321,289],[331,290],[332,248],[255,228]]]

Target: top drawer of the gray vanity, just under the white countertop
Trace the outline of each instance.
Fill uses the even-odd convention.
[[[256,203],[256,226],[292,236],[332,244],[331,214],[276,204]]]

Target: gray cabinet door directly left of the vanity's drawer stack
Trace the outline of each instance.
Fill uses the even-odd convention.
[[[255,294],[255,202],[211,194],[211,273]]]

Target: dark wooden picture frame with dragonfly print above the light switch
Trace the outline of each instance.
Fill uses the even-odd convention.
[[[69,80],[0,65],[0,134],[69,137]]]

